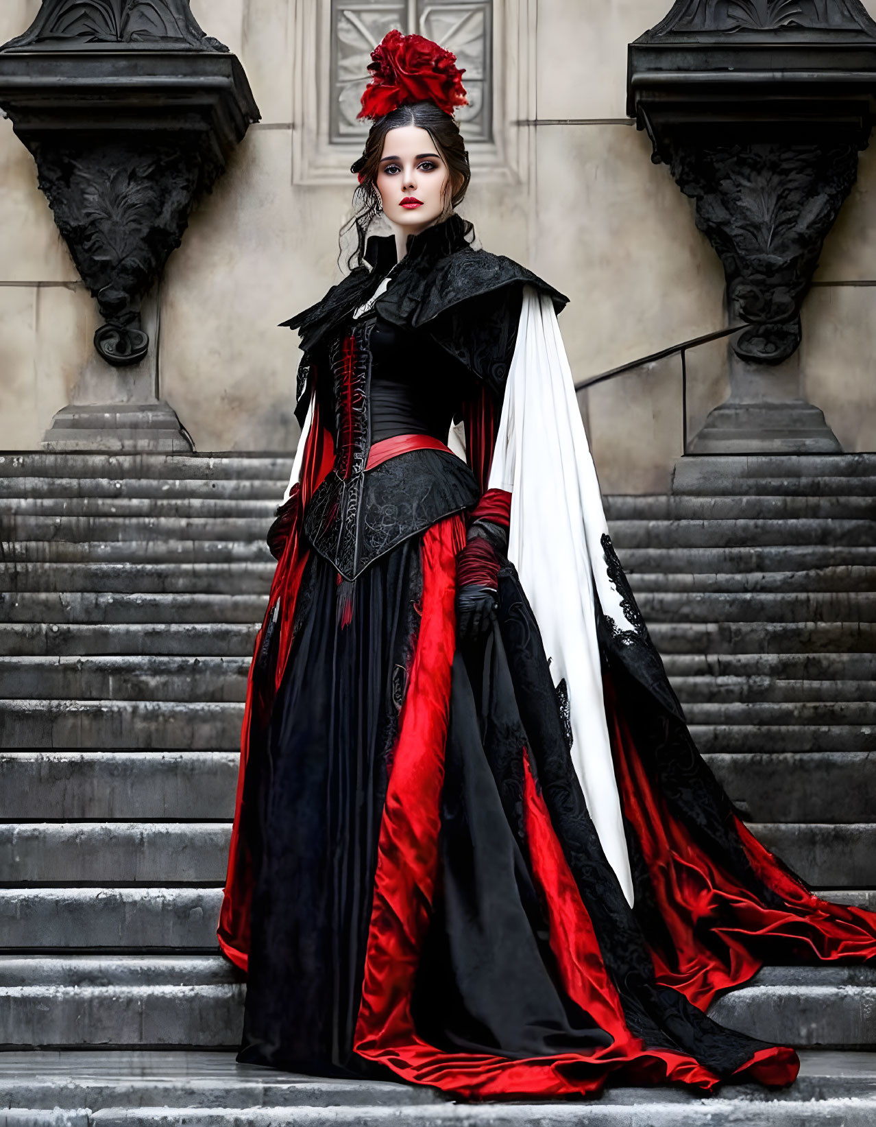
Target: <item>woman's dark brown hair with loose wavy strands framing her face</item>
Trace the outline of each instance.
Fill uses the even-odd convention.
[[[472,170],[468,167],[468,152],[465,148],[459,126],[449,114],[439,109],[433,101],[414,101],[399,106],[391,114],[378,117],[368,132],[361,157],[350,167],[351,172],[360,177],[359,186],[354,193],[354,204],[358,207],[356,214],[341,228],[343,236],[356,227],[357,245],[347,260],[348,267],[360,266],[365,256],[365,239],[372,221],[381,212],[381,194],[377,190],[377,172],[381,167],[383,145],[390,130],[403,125],[417,125],[426,130],[432,139],[438,153],[444,158],[450,174],[450,196],[446,201],[441,216],[447,219],[465,197]],[[440,222],[440,220],[439,220]]]

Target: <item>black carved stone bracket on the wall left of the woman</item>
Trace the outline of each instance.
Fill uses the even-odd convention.
[[[198,27],[189,0],[43,0],[27,32],[0,47],[0,107],[98,303],[99,356],[136,372],[150,346],[141,303],[259,119],[240,62]],[[93,372],[90,385],[93,394]],[[115,418],[107,403],[135,407],[143,394],[131,380],[118,394],[109,388],[97,414]],[[65,416],[65,435],[69,425]]]

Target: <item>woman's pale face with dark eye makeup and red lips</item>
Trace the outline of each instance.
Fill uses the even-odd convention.
[[[383,143],[377,190],[386,218],[417,234],[444,212],[450,171],[419,125],[390,130]],[[447,187],[449,192],[449,187]]]

